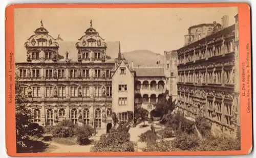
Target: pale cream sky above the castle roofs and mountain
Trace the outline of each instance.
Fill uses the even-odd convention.
[[[58,34],[65,41],[78,41],[90,27],[105,41],[120,41],[121,52],[147,49],[164,54],[184,45],[184,35],[191,25],[221,23],[229,16],[234,24],[237,7],[223,8],[147,8],[147,9],[15,9],[15,52],[24,50],[24,43],[40,27],[40,21],[49,34]],[[25,53],[25,52],[24,52]]]

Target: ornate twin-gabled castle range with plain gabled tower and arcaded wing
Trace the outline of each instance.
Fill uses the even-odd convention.
[[[15,59],[34,122],[69,119],[108,131],[112,112],[119,121],[138,104],[150,112],[165,92],[163,67],[134,68],[121,55],[120,42],[105,42],[90,23],[77,41],[65,41],[54,39],[41,21],[25,42],[26,55]]]

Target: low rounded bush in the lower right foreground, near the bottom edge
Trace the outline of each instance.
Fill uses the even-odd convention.
[[[187,135],[182,133],[174,140],[174,147],[181,150],[191,150],[199,146],[199,138],[195,134]]]

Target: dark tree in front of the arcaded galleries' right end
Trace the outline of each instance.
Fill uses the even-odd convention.
[[[166,94],[163,93],[165,96]],[[166,98],[166,97],[160,97],[158,98],[158,101],[154,106],[156,107],[155,112],[158,113],[161,118],[166,115],[170,114],[174,111],[175,109],[175,102],[176,100],[173,101],[172,97]]]

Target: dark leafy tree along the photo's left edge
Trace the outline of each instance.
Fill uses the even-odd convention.
[[[27,109],[28,100],[20,86],[19,77],[15,75],[15,123],[16,123],[16,147],[17,151],[27,147],[29,136],[29,123],[32,121],[32,113]]]

